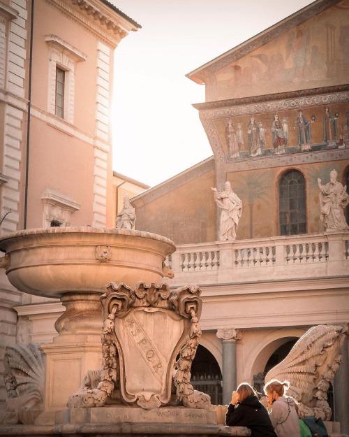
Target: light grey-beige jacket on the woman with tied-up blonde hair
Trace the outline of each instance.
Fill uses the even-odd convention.
[[[292,398],[281,396],[273,403],[269,417],[278,437],[299,437],[298,415]]]

